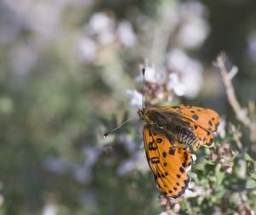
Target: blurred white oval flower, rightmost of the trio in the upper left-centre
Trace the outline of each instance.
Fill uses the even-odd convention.
[[[129,21],[121,21],[119,23],[117,33],[119,40],[125,45],[125,47],[132,47],[136,42],[136,34],[132,30],[131,23]]]

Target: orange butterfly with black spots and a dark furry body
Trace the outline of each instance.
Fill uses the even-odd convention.
[[[189,186],[190,148],[212,145],[218,113],[190,105],[143,108],[137,113],[144,122],[144,148],[155,182],[162,194],[177,199]]]

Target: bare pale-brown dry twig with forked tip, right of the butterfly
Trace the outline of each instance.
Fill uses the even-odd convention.
[[[233,66],[231,70],[228,71],[225,66],[226,60],[227,58],[224,53],[219,54],[217,57],[217,61],[214,63],[214,65],[218,67],[221,73],[222,79],[224,81],[224,86],[226,88],[227,97],[229,99],[230,105],[235,111],[237,120],[249,129],[250,140],[252,142],[256,142],[256,122],[253,122],[253,120],[250,119],[249,116],[247,116],[246,109],[241,108],[241,105],[236,98],[235,89],[232,84],[232,79],[234,76],[236,76],[238,68],[237,66]]]

